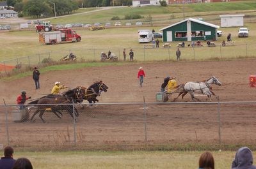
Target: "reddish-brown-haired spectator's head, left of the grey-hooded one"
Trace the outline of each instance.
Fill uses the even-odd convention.
[[[199,158],[200,169],[214,169],[214,158],[211,152],[204,152]]]

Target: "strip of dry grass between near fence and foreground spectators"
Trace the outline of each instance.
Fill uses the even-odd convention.
[[[106,169],[106,168],[198,168],[198,151],[134,152],[15,152],[14,158],[26,157],[33,168]],[[236,152],[213,151],[215,168],[230,168]]]

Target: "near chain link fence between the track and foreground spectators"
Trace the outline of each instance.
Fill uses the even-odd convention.
[[[0,144],[145,149],[175,143],[254,143],[255,106],[256,101],[49,105],[43,122],[40,112],[35,114],[38,105],[23,110],[1,105]]]

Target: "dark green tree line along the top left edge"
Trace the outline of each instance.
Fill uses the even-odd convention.
[[[31,17],[68,15],[78,8],[132,5],[132,0],[6,0],[19,14]],[[54,11],[55,4],[55,11]],[[20,16],[22,17],[22,16]]]

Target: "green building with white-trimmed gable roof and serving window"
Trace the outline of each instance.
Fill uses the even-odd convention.
[[[218,28],[220,26],[195,18],[187,18],[160,31],[163,31],[163,41],[217,40]]]

